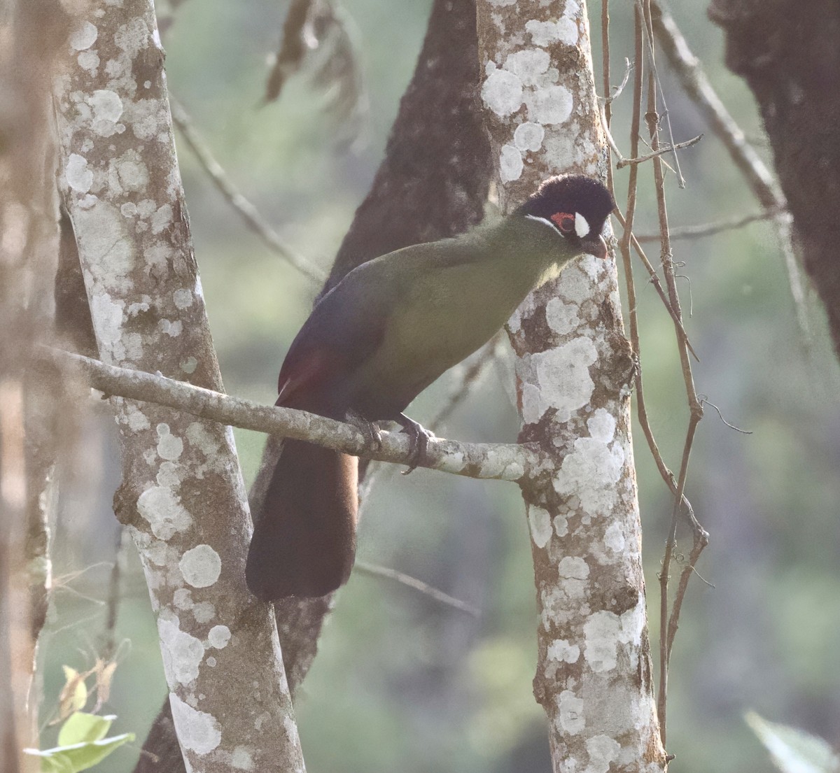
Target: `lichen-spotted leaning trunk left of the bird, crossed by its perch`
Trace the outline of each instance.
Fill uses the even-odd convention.
[[[60,185],[100,358],[222,389],[151,0],[94,0],[56,79]],[[112,399],[123,484],[188,770],[303,770],[270,608],[244,583],[249,518],[229,427]]]

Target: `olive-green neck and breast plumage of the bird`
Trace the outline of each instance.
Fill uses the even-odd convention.
[[[379,259],[371,269],[396,303],[380,346],[354,374],[358,390],[402,410],[489,341],[544,275],[570,257],[554,229],[517,217]]]

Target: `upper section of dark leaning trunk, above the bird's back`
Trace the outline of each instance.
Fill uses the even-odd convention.
[[[366,260],[480,222],[492,167],[475,99],[478,76],[475,0],[435,0],[385,159],[323,292]]]

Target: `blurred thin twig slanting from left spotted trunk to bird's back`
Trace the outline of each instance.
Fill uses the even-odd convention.
[[[184,110],[184,108],[181,107],[181,104],[171,95],[169,102],[172,112],[172,123],[174,123],[181,132],[181,137],[184,138],[187,146],[195,154],[198,163],[201,165],[202,169],[207,172],[210,180],[213,181],[213,185],[221,191],[222,195],[228,201],[228,204],[234,207],[236,212],[239,212],[239,216],[242,217],[245,224],[260,237],[262,242],[270,248],[272,252],[277,253],[281,256],[281,258],[287,260],[298,271],[309,277],[309,279],[312,279],[319,284],[323,284],[324,280],[327,278],[327,274],[312,265],[312,263],[310,263],[300,253],[297,253],[294,249],[289,247],[289,245],[280,238],[274,228],[270,227],[268,222],[265,221],[265,218],[260,215],[257,208],[236,189],[236,186],[222,169],[221,165],[219,165],[218,161],[213,158],[213,154],[210,152],[210,149],[207,148],[207,144],[199,136],[196,128],[190,120],[189,115],[187,115],[186,110]]]

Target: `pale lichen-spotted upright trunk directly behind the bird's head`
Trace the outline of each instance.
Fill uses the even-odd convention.
[[[539,180],[603,178],[585,3],[479,0],[481,97],[506,211]],[[534,694],[556,773],[664,770],[652,691],[617,271],[586,256],[513,316],[521,441],[556,464],[522,487],[539,611]]]

